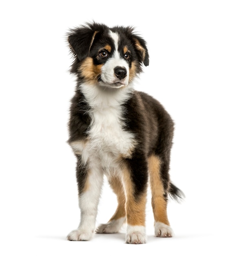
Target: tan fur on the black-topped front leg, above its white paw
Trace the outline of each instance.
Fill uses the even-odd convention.
[[[126,195],[125,207],[127,224],[145,226],[146,190],[135,200],[130,170],[126,164],[123,166],[122,175]]]

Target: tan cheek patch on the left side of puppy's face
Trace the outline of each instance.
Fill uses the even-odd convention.
[[[101,74],[101,65],[94,65],[93,58],[87,57],[82,61],[82,64],[78,68],[78,71],[82,74],[87,82],[95,84]]]

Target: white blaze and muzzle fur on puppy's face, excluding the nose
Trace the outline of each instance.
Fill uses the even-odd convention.
[[[128,85],[129,79],[129,65],[128,63],[122,58],[118,52],[118,42],[119,42],[119,35],[110,31],[110,36],[114,41],[115,51],[111,58],[106,61],[106,63],[102,67],[101,79],[100,82],[104,86],[110,86],[112,88],[121,88],[123,86]],[[127,71],[127,75],[124,79],[118,79],[115,76],[114,68],[115,67],[123,67]],[[116,84],[119,83],[119,84]]]

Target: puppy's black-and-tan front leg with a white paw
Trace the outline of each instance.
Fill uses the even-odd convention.
[[[126,243],[146,243],[145,211],[148,170],[145,158],[126,159],[123,183],[126,195]]]

